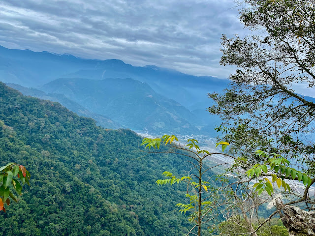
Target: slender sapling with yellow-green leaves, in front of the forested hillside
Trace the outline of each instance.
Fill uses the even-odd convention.
[[[164,135],[161,138],[156,139],[145,138],[143,139],[141,146],[145,146],[145,148],[149,149],[159,149],[161,144],[168,146],[170,149],[149,152],[173,153],[189,157],[187,161],[189,162],[191,169],[188,171],[188,174],[183,177],[177,177],[176,175],[165,171],[162,175],[166,178],[158,179],[156,183],[158,185],[173,185],[174,183],[179,184],[180,182],[185,182],[187,184],[186,198],[188,199],[188,202],[177,203],[176,207],[180,208],[179,211],[181,213],[186,214],[189,212],[188,220],[190,223],[193,223],[193,226],[187,236],[190,234],[201,236],[202,232],[212,232],[212,229],[209,227],[209,221],[215,220],[220,215],[221,208],[229,205],[229,199],[224,196],[230,195],[231,191],[225,190],[225,186],[223,188],[218,188],[214,183],[214,176],[223,184],[228,180],[225,177],[217,177],[211,172],[212,169],[227,163],[209,166],[207,165],[207,159],[211,158],[213,155],[232,156],[221,152],[209,152],[208,150],[203,150],[199,148],[198,141],[195,139],[188,139],[186,143],[181,144],[178,138],[174,135]],[[229,144],[221,142],[218,145],[221,145],[222,151],[224,151]],[[229,188],[230,187],[231,186],[229,186]],[[206,230],[206,228],[208,228],[208,230]]]

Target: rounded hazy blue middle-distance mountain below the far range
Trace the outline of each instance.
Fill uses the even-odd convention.
[[[155,134],[199,132],[189,123],[195,117],[188,109],[159,95],[148,84],[130,78],[58,79],[42,89],[62,93],[90,111],[109,116],[132,130]]]

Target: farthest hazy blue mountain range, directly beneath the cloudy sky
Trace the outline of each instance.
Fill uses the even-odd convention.
[[[139,67],[117,59],[81,59],[0,46],[2,82],[36,88],[58,78],[132,78],[148,83],[156,92],[186,107],[200,100],[209,102],[206,93],[221,91],[228,83],[228,80],[188,75],[154,65]]]

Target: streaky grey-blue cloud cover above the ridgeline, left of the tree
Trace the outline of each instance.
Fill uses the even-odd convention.
[[[0,45],[227,77],[220,37],[244,32],[232,0],[0,2]]]

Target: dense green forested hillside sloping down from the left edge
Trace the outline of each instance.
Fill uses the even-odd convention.
[[[174,206],[178,186],[155,183],[164,170],[184,174],[174,155],[145,155],[141,137],[108,130],[56,102],[0,83],[0,165],[31,173],[19,203],[0,212],[0,236],[177,236],[189,223]]]

